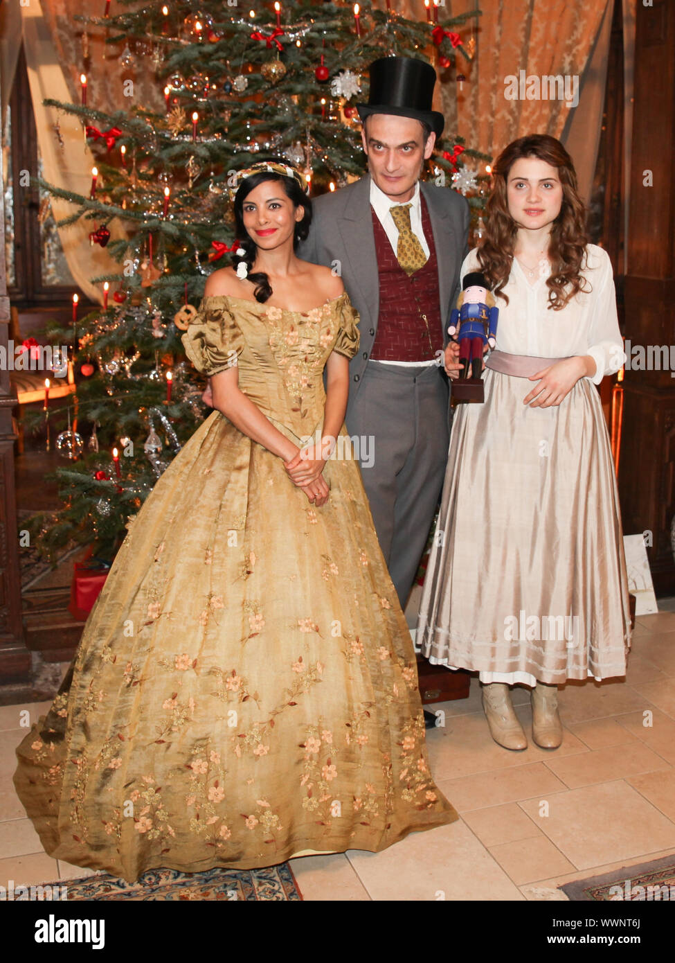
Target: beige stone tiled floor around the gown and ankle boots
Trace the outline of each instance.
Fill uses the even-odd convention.
[[[527,732],[527,690],[513,701]],[[88,872],[42,852],[13,792],[20,713],[47,705],[0,708],[0,885]],[[553,752],[492,742],[476,680],[433,708],[445,724],[428,733],[431,768],[460,819],[380,853],[293,860],[305,899],[564,900],[561,883],[675,854],[675,612],[638,617],[626,682],[560,692]]]

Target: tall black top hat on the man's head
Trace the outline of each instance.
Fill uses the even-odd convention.
[[[369,67],[371,86],[367,104],[356,104],[358,116],[395,114],[428,123],[436,137],[443,133],[445,117],[431,110],[436,71],[411,57],[381,57]]]

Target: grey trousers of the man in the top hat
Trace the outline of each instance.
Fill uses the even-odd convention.
[[[368,459],[361,455],[361,477],[404,609],[448,462],[450,415],[443,369],[370,361],[350,404],[347,430],[370,442]]]

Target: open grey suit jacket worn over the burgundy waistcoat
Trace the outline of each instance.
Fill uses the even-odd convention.
[[[450,312],[459,293],[459,269],[467,254],[469,205],[448,188],[420,183],[428,204],[438,261],[438,294],[443,322],[443,344],[448,343]],[[342,275],[361,323],[359,349],[350,361],[350,405],[358,393],[373,350],[379,313],[379,275],[371,213],[371,178],[367,174],[334,194],[312,202],[309,237],[298,256],[332,267]]]

